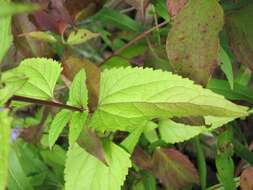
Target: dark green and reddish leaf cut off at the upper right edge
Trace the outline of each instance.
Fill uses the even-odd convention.
[[[237,59],[253,71],[253,4],[226,18],[226,31]]]

